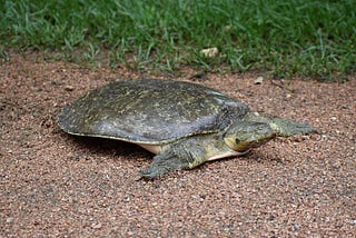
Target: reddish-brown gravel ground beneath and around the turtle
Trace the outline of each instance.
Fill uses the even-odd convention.
[[[91,88],[151,76],[10,57],[0,66],[0,237],[356,236],[355,77],[255,85],[208,73],[196,82],[322,133],[145,181],[149,152],[68,136],[55,120]]]

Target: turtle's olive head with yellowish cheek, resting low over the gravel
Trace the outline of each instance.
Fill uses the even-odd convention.
[[[225,143],[238,152],[259,147],[276,137],[276,131],[268,123],[237,121],[225,133]]]

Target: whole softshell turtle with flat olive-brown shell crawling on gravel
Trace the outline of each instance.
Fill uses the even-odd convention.
[[[157,79],[93,89],[65,107],[57,122],[71,135],[123,140],[156,153],[141,170],[148,179],[244,155],[276,136],[316,132],[307,123],[254,113],[214,89]]]

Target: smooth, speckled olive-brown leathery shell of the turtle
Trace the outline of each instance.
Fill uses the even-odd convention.
[[[248,106],[214,89],[184,81],[140,79],[93,89],[58,116],[68,133],[161,145],[225,130]]]

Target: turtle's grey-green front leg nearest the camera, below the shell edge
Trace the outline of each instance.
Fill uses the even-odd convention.
[[[176,169],[191,169],[207,160],[206,149],[195,138],[170,145],[141,170],[142,178],[154,179]]]

